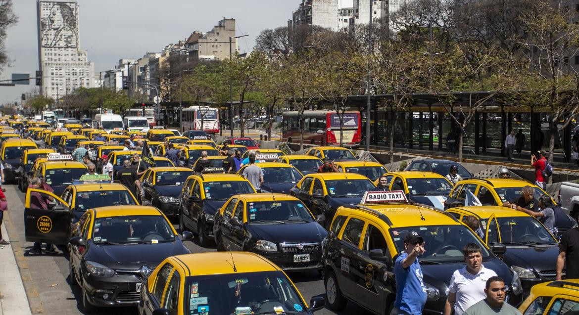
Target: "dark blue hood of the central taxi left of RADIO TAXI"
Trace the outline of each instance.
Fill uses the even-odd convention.
[[[256,240],[273,243],[320,243],[328,234],[318,222],[286,224],[245,224]]]

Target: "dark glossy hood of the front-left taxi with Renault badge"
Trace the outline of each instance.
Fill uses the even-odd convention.
[[[189,253],[181,240],[131,245],[97,245],[91,242],[86,259],[112,269],[139,269],[142,265],[154,269],[167,257]]]

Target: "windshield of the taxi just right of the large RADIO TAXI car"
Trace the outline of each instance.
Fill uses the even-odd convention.
[[[485,230],[487,222],[488,219],[481,219]],[[557,244],[551,233],[535,218],[497,218],[497,222],[499,222],[501,243]]]

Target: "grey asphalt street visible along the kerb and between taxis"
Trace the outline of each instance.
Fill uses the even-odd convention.
[[[82,314],[80,288],[68,283],[68,256],[61,251],[58,254],[30,255],[32,243],[24,241],[24,193],[16,185],[5,185],[9,202],[5,225],[8,229],[14,256],[19,265],[24,287],[31,306],[32,314],[68,315]],[[177,225],[174,225],[178,229]],[[185,245],[193,253],[216,251],[215,247],[201,247],[193,241]],[[312,296],[325,296],[324,281],[317,271],[289,273],[306,302]],[[91,314],[137,314],[136,307],[97,309]],[[354,303],[348,303],[342,312],[323,309],[316,314],[357,314],[369,312]]]

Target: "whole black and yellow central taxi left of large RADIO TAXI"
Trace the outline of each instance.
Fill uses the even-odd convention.
[[[296,197],[278,193],[234,195],[215,214],[218,250],[251,251],[284,270],[321,268],[321,242],[327,235]]]

